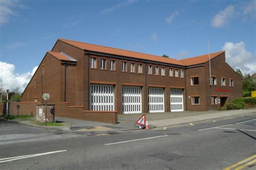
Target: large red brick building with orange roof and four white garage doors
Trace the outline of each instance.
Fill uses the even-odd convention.
[[[242,82],[225,51],[210,59],[211,81],[208,54],[176,60],[58,39],[21,101],[42,102],[49,93],[57,116],[97,120],[116,113],[215,110],[242,96]]]

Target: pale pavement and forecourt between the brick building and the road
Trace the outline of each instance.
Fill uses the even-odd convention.
[[[225,111],[183,111],[183,112],[163,112],[163,113],[146,113],[146,120],[149,121],[150,128],[161,128],[179,124],[206,121],[222,117],[237,116],[244,114],[256,114],[256,108],[244,110],[225,110]],[[83,121],[72,118],[56,117],[56,122],[63,126],[38,126],[35,124],[35,118],[29,120],[15,120],[15,122],[38,126],[44,129],[59,129],[65,131],[78,132],[106,132],[106,131],[127,131],[139,130],[134,128],[134,123],[143,114],[118,115],[118,124],[109,124],[101,122]]]

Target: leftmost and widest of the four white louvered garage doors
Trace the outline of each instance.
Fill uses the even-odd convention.
[[[91,110],[114,111],[114,86],[91,85]]]

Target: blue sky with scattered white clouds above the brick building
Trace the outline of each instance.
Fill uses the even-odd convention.
[[[58,38],[256,72],[256,0],[0,0],[0,86],[23,92]]]

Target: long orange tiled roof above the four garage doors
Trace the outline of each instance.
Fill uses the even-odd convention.
[[[80,49],[85,49],[85,50],[92,51],[92,52],[126,56],[126,57],[130,57],[130,58],[157,61],[157,62],[169,63],[169,64],[173,64],[173,65],[184,66],[184,63],[182,63],[179,60],[165,58],[163,56],[144,54],[144,53],[139,53],[139,52],[128,51],[125,49],[105,47],[105,46],[100,46],[100,45],[88,44],[85,42],[66,40],[66,39],[62,39],[62,38],[59,38],[58,40],[66,42],[66,43],[73,45],[75,47],[78,47]]]

